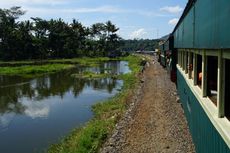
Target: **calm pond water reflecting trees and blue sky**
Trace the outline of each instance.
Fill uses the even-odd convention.
[[[42,152],[92,118],[91,106],[114,96],[121,80],[76,79],[82,71],[130,72],[127,62],[108,62],[39,78],[0,76],[0,152]]]

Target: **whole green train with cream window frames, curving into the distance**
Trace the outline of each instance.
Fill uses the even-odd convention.
[[[230,1],[188,0],[159,62],[176,83],[197,153],[230,153]]]

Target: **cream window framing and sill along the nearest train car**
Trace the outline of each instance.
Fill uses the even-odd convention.
[[[189,79],[189,75],[185,73],[183,66],[185,63],[185,50],[180,49],[182,59],[177,65],[178,73],[181,73],[185,81],[189,85],[191,91],[199,101],[203,110],[206,112],[210,121],[213,123],[217,131],[230,147],[230,121],[225,116],[225,60],[230,60],[229,50],[189,50],[194,55],[193,58],[193,71],[194,79]],[[197,55],[202,55],[202,89],[197,86]],[[218,70],[217,70],[217,106],[207,97],[207,56],[218,57]],[[204,82],[205,81],[205,82]]]

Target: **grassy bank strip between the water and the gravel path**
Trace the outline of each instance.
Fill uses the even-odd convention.
[[[111,135],[117,121],[123,116],[127,102],[138,85],[140,57],[129,56],[120,60],[129,61],[132,73],[120,76],[124,80],[122,90],[114,97],[93,106],[94,118],[82,128],[73,130],[60,143],[53,144],[49,153],[96,153]]]

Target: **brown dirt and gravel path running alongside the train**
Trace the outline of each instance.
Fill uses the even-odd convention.
[[[175,84],[158,62],[146,68],[139,94],[101,152],[194,152]]]

